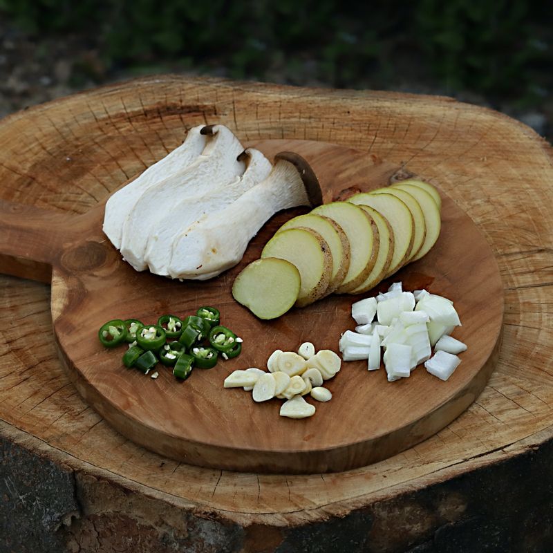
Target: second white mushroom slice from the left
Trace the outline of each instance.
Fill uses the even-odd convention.
[[[143,271],[147,268],[144,254],[148,238],[178,199],[207,194],[243,174],[245,164],[236,159],[243,151],[242,144],[223,125],[215,125],[212,132],[200,156],[180,174],[160,180],[142,192],[126,218],[121,254],[135,270]],[[232,236],[228,228],[227,234]]]

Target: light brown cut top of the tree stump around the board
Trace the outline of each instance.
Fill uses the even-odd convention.
[[[176,147],[183,122],[223,122],[243,140],[344,144],[407,162],[439,182],[485,234],[505,287],[503,345],[488,386],[433,438],[370,467],[323,477],[191,467],[136,447],[111,430],[81,400],[59,364],[49,286],[1,277],[0,416],[6,440],[70,467],[82,475],[75,476],[79,482],[87,474],[90,486],[92,480],[117,482],[129,493],[252,532],[256,525],[301,526],[328,518],[339,525],[359,520],[348,516],[372,506],[382,518],[368,536],[400,543],[397,532],[385,532],[386,521],[395,520],[394,528],[408,521],[413,494],[430,494],[437,486],[440,494],[440,486],[460,482],[460,476],[478,489],[482,480],[473,475],[494,468],[493,474],[511,478],[509,490],[520,482],[534,485],[539,496],[544,488],[529,478],[533,465],[521,472],[503,467],[514,458],[539,457],[553,438],[549,145],[514,120],[447,98],[160,77],[100,88],[3,120],[1,196],[58,213],[88,212],[116,183]],[[433,518],[423,513],[428,525],[413,523],[409,539],[422,539],[429,529],[472,512],[465,491],[455,489],[453,496],[439,501],[436,496]],[[85,499],[93,505],[93,498]],[[391,510],[384,512],[382,505]],[[279,535],[265,532],[270,543],[280,543]]]

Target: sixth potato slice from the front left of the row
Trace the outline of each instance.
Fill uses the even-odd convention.
[[[353,204],[368,205],[376,209],[390,223],[393,231],[394,250],[386,277],[395,273],[409,259],[413,245],[413,216],[400,198],[393,194],[362,192],[348,199]]]

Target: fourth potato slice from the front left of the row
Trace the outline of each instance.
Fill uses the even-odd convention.
[[[379,243],[375,240],[376,225],[363,209],[349,202],[332,202],[319,205],[312,213],[324,215],[338,223],[350,243],[350,266],[338,294],[349,292],[365,281],[373,270]]]

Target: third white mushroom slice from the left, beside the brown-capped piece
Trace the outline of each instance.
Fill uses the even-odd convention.
[[[182,196],[174,198],[174,205],[165,213],[156,227],[153,227],[144,253],[144,261],[148,263],[154,274],[167,276],[167,265],[171,261],[172,246],[176,236],[196,221],[220,212],[227,205],[238,199],[252,186],[265,180],[270,174],[271,164],[259,150],[247,149],[241,154],[246,164],[242,176],[223,182],[223,186],[202,190],[197,196]],[[218,178],[214,178],[216,186]]]

